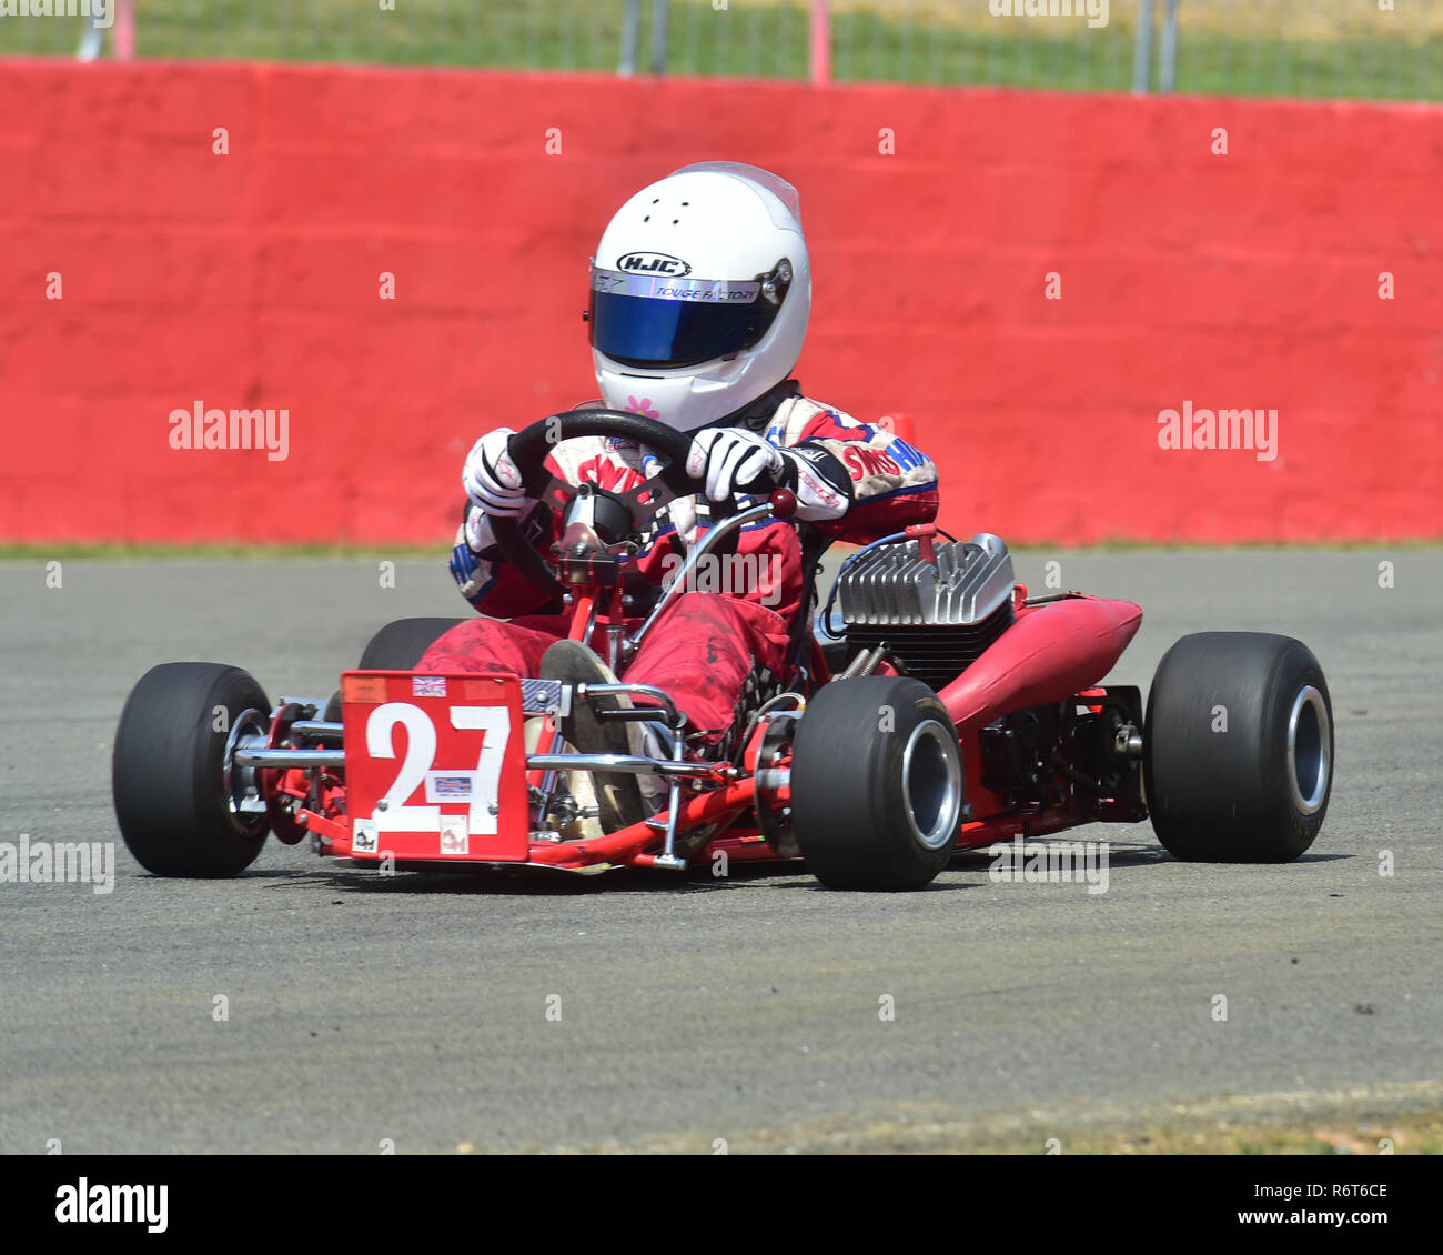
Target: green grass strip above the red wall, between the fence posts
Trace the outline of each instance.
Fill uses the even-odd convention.
[[[883,9],[883,0],[877,0]],[[1267,0],[1258,0],[1266,4]],[[620,0],[141,0],[139,51],[156,58],[359,61],[615,72]],[[644,6],[639,69],[649,64]],[[672,74],[807,75],[808,22],[799,3],[671,0]],[[1286,20],[1280,10],[1278,22]],[[983,13],[983,16],[986,16]],[[1126,91],[1131,10],[1113,6],[1101,30],[1071,20],[903,20],[895,12],[835,13],[841,81],[980,84]],[[78,19],[0,19],[0,53],[74,52]],[[1394,33],[1384,33],[1391,30]],[[1212,23],[1185,26],[1177,90],[1196,94],[1439,100],[1436,43],[1403,23],[1341,26],[1293,38]]]

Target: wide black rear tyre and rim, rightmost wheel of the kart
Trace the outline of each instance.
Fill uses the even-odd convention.
[[[1264,633],[1198,633],[1157,664],[1143,771],[1173,858],[1289,862],[1317,836],[1333,708],[1312,650]]]

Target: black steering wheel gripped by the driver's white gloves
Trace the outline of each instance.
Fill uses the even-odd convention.
[[[662,466],[649,479],[626,492],[610,490],[608,494],[631,513],[635,531],[644,530],[644,526],[668,501],[674,501],[677,497],[693,497],[703,491],[703,481],[693,479],[687,474],[691,436],[685,432],[623,410],[567,410],[564,414],[540,419],[530,427],[517,432],[506,443],[506,452],[515,462],[517,471],[521,472],[521,484],[527,490],[527,495],[544,501],[557,511],[558,517],[570,505],[577,485],[567,484],[566,479],[553,475],[545,468],[545,458],[561,440],[571,440],[577,436],[612,436],[633,440],[661,456]],[[726,501],[709,501],[707,504],[713,523],[736,513],[736,500],[732,497]],[[557,578],[557,568],[527,542],[521,533],[519,520],[492,517],[491,531],[496,537],[496,546],[502,556],[530,583],[553,598],[566,592],[566,585]]]

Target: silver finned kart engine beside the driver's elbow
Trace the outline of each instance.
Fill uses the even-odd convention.
[[[909,674],[944,689],[1013,621],[1012,555],[1001,537],[908,540],[860,553],[837,579],[848,653],[885,644]]]

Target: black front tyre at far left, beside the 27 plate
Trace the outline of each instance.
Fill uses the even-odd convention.
[[[229,729],[247,712],[268,719],[266,693],[221,663],[163,663],[131,689],[111,789],[120,835],[146,871],[228,877],[261,852],[266,816],[234,813],[225,781]]]

